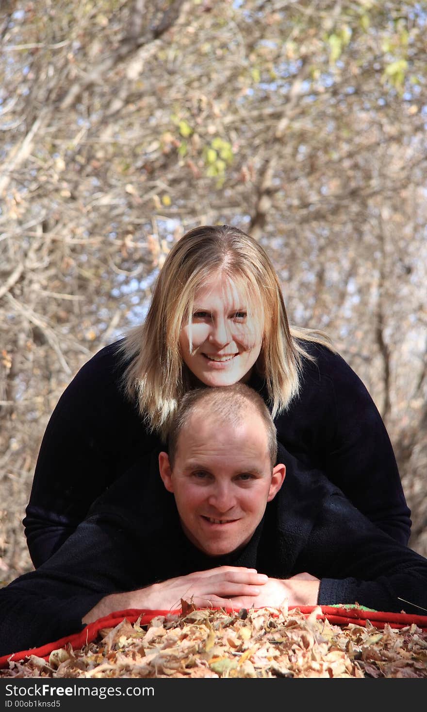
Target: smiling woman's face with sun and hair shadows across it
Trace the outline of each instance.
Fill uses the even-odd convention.
[[[180,350],[184,363],[206,386],[249,379],[264,329],[248,310],[244,291],[222,273],[195,293],[193,318],[180,331]]]

